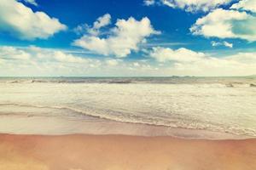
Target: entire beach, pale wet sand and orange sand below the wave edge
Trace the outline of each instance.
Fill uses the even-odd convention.
[[[2,170],[254,170],[256,139],[91,116],[2,114]]]

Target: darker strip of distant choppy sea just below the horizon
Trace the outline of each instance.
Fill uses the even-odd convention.
[[[0,78],[0,83],[155,83],[189,84],[199,87],[255,88],[256,77],[22,77]]]

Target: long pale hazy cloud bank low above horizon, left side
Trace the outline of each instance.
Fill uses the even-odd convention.
[[[0,76],[143,76],[158,68],[145,61],[133,65],[122,59],[96,59],[75,51],[0,46]]]

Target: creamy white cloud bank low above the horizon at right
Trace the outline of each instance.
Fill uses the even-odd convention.
[[[189,76],[245,76],[256,70],[256,53],[238,53],[230,56],[214,57],[189,49],[156,48],[150,56],[165,66],[162,71],[172,75]],[[158,52],[158,53],[157,53]]]

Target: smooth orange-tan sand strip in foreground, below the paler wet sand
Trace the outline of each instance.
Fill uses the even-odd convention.
[[[2,170],[254,170],[256,139],[0,135]]]

